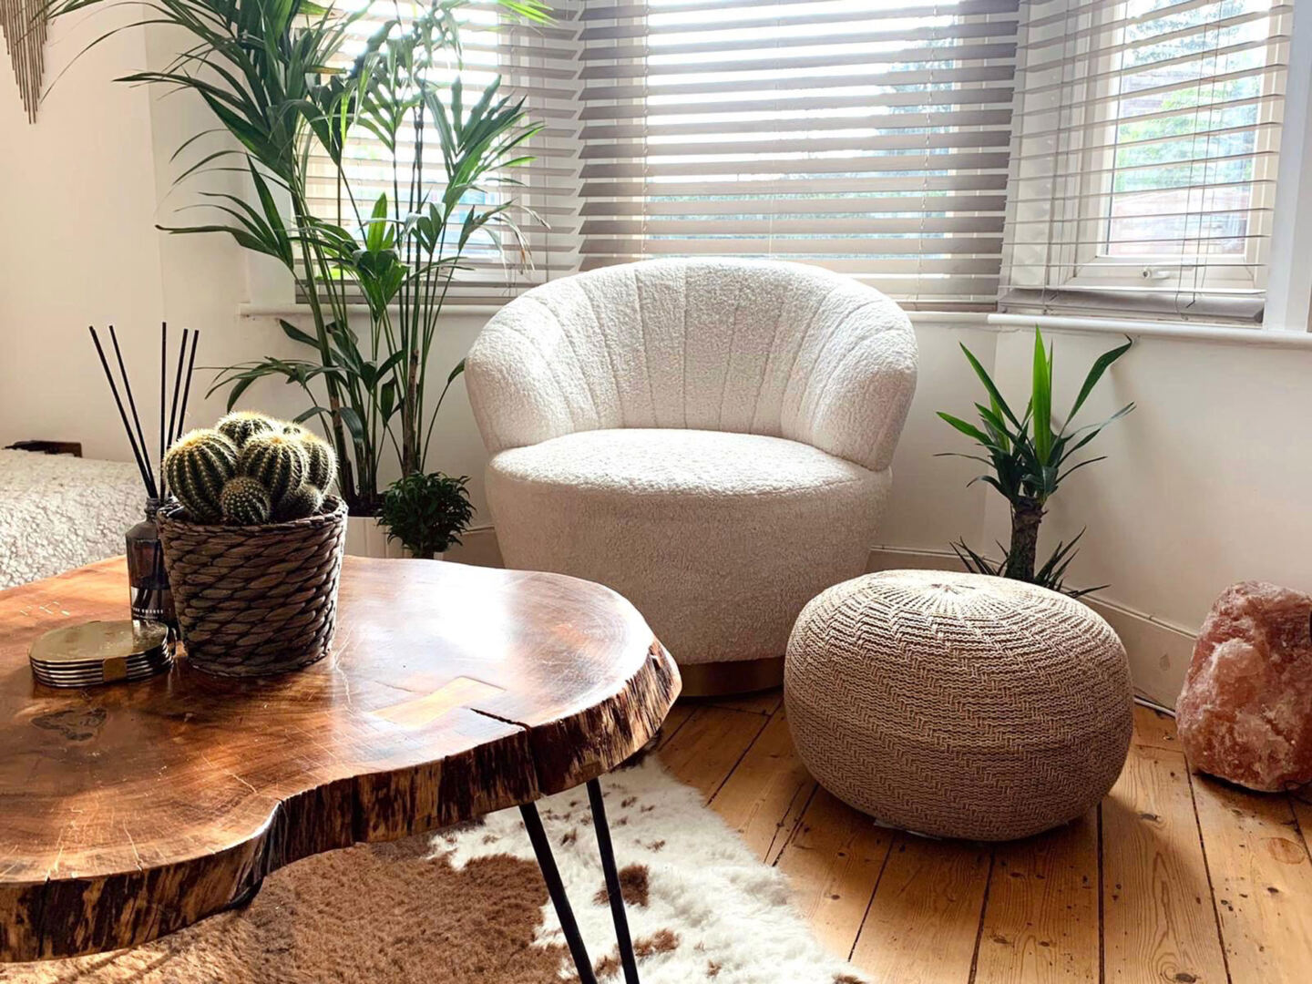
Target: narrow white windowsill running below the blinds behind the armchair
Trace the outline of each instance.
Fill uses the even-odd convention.
[[[445,315],[491,318],[501,304],[453,304]],[[365,304],[349,304],[353,315],[366,315]],[[308,304],[252,304],[237,306],[239,318],[306,318]],[[1000,315],[987,311],[908,311],[912,324],[942,324],[979,328],[993,332],[1019,332],[1038,325],[1048,332],[1080,332],[1128,335],[1134,338],[1168,338],[1172,341],[1204,341],[1216,345],[1261,345],[1263,348],[1309,349],[1312,332],[1288,332],[1274,328],[1236,328],[1231,324],[1203,324],[1186,321],[1134,321],[1111,318],[1057,318],[1054,315]]]

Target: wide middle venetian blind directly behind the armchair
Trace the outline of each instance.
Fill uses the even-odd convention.
[[[1019,0],[588,0],[584,269],[750,256],[992,308]]]

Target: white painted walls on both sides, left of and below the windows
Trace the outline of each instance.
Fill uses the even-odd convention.
[[[102,20],[56,24],[49,77],[102,29]],[[9,219],[0,236],[0,443],[80,440],[91,455],[129,457],[85,336],[91,323],[119,325],[143,390],[155,378],[160,318],[174,329],[203,329],[203,366],[295,353],[273,318],[239,315],[243,302],[266,299],[268,291],[252,290],[262,277],[234,244],[154,228],[189,201],[188,193],[171,192],[168,157],[203,114],[182,98],[160,100],[109,80],[147,59],[157,66],[167,51],[159,37],[148,43],[139,33],[114,38],[70,70],[37,126],[25,122],[8,66],[0,67],[0,194]],[[485,316],[446,319],[434,377],[445,378]],[[306,324],[304,316],[297,320]],[[934,412],[970,415],[980,394],[958,342],[996,369],[1006,392],[1027,392],[1033,335],[996,332],[981,315],[967,324],[917,323],[917,337],[920,387],[895,459],[880,544],[943,551],[964,537],[985,548],[1006,538],[1005,504],[984,485],[966,487],[975,463],[934,457],[967,450]],[[1089,362],[1117,338],[1052,337],[1064,407]],[[203,398],[207,375],[197,377],[192,424],[222,412],[222,396]],[[1072,583],[1109,583],[1109,601],[1187,630],[1198,627],[1221,588],[1240,579],[1312,589],[1304,546],[1312,541],[1304,504],[1312,484],[1309,378],[1307,349],[1139,341],[1085,416],[1127,400],[1139,409],[1090,449],[1109,461],[1073,478],[1051,502],[1040,548],[1088,525]],[[140,392],[139,403],[154,420],[154,394]],[[281,415],[304,405],[293,387],[273,382],[253,387],[243,403]],[[462,383],[451,390],[438,433],[434,464],[475,478],[485,522],[484,455]],[[1158,669],[1165,681],[1158,693],[1165,693],[1183,665],[1177,657]]]

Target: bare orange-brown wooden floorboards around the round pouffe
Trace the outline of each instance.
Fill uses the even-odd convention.
[[[1312,789],[1191,775],[1170,715],[1135,708],[1097,810],[998,845],[890,830],[817,787],[778,691],[680,702],[660,757],[778,865],[858,980],[1312,981]]]

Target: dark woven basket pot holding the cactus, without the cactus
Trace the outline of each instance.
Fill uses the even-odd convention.
[[[261,677],[328,655],[346,543],[346,504],[266,526],[188,522],[159,514],[164,565],[186,659],[224,677]]]

